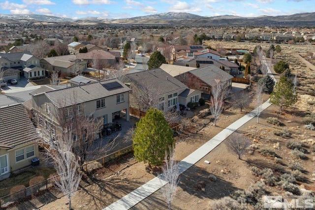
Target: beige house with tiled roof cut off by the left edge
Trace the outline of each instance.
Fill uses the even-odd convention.
[[[38,135],[22,104],[0,107],[0,180],[31,165]]]

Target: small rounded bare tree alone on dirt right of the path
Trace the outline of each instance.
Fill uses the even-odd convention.
[[[246,149],[251,145],[250,140],[240,133],[233,133],[226,140],[224,140],[228,150],[238,155],[238,159],[241,160],[242,155],[246,152]]]

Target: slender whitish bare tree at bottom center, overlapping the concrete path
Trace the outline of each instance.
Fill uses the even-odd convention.
[[[169,157],[169,158],[168,158]],[[171,210],[172,201],[176,195],[178,177],[179,177],[179,165],[175,160],[174,148],[169,147],[169,151],[165,151],[165,164],[162,166],[162,180],[167,183],[161,188],[163,197],[168,205],[168,210]]]

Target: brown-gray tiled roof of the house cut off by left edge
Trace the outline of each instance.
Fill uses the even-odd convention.
[[[0,145],[14,148],[38,138],[34,125],[21,104],[0,108]]]

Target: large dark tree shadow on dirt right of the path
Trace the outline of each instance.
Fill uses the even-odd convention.
[[[217,177],[216,180],[210,178],[211,173],[196,165],[192,165],[185,171],[179,180],[178,186],[190,195],[198,198],[220,199],[239,190],[233,183]]]

